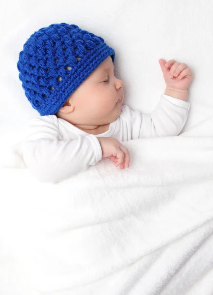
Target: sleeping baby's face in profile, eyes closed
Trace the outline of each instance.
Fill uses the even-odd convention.
[[[123,102],[123,82],[114,76],[112,58],[105,59],[67,102],[66,112],[59,112],[59,117],[75,125],[104,125],[118,118]],[[68,112],[68,108],[73,111]]]

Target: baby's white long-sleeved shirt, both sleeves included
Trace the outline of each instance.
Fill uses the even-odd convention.
[[[80,130],[55,115],[42,116],[30,121],[27,138],[15,152],[21,154],[33,176],[42,182],[56,183],[101,160],[102,150],[97,137],[114,137],[123,142],[143,137],[175,136],[183,129],[189,107],[189,102],[165,94],[161,95],[151,115],[141,115],[122,105],[120,116],[110,123],[106,132],[98,135]]]

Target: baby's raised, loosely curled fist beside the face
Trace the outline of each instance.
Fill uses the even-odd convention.
[[[158,60],[166,86],[176,89],[187,89],[192,81],[193,75],[187,64],[177,62],[175,59],[165,61]]]

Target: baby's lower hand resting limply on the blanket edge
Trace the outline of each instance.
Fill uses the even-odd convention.
[[[115,166],[123,169],[129,167],[130,155],[126,147],[124,147],[117,139],[113,137],[97,137],[101,149],[102,157],[109,158],[115,162]]]

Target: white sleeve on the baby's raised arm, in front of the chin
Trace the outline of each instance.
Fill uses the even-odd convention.
[[[122,106],[122,141],[146,137],[177,136],[183,129],[190,103],[162,94],[149,114]]]

